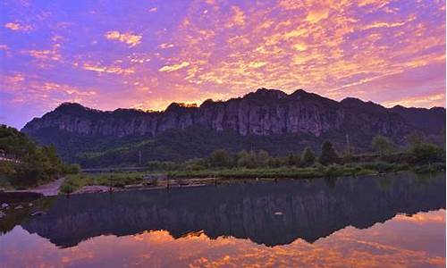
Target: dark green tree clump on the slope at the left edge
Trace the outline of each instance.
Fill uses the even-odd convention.
[[[3,186],[37,185],[65,172],[79,172],[76,165],[63,164],[55,147],[38,147],[20,131],[0,125],[0,183]]]

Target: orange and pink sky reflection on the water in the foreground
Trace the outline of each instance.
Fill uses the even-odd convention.
[[[432,247],[426,252],[426,242],[419,239],[444,231],[445,211],[414,215],[425,218],[426,230],[417,222],[390,221],[376,223],[371,229],[347,227],[333,235],[310,244],[297,239],[289,245],[265,247],[249,239],[219,237],[210,239],[203,232],[185,234],[174,239],[165,230],[144,231],[133,236],[100,236],[82,241],[79,247],[57,250],[46,239],[33,236],[29,247],[18,247],[17,241],[26,233],[20,227],[9,238],[11,249],[4,258],[6,264],[41,267],[55,264],[99,266],[101,261],[113,260],[117,266],[182,266],[182,267],[443,267],[445,248]],[[398,216],[403,219],[405,216]],[[442,221],[438,221],[441,219]],[[383,236],[380,236],[380,235]],[[411,234],[411,235],[409,235]],[[437,241],[443,236],[436,235]],[[103,246],[103,247],[101,247]],[[29,251],[33,248],[33,251]],[[39,256],[52,257],[39,257]],[[3,256],[0,253],[0,256]]]

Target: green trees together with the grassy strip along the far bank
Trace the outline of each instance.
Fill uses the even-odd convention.
[[[380,140],[382,137],[375,138]],[[148,171],[164,173],[167,178],[186,183],[184,179],[279,179],[279,178],[320,178],[329,182],[338,176],[357,176],[384,172],[435,172],[445,170],[445,153],[443,148],[427,143],[424,138],[409,136],[406,151],[386,153],[378,150],[376,154],[353,154],[354,148],[348,147],[342,155],[337,154],[332,143],[326,141],[321,151],[314,155],[311,147],[306,147],[302,154],[290,153],[285,156],[269,155],[265,150],[241,150],[232,153],[226,149],[216,149],[207,157],[192,158],[183,162],[149,161]],[[392,143],[389,146],[392,147]],[[374,144],[374,143],[373,143]],[[78,174],[68,176],[61,191],[72,193],[86,185],[103,185],[125,187],[128,184],[143,185],[145,173],[117,172],[102,174]],[[159,176],[156,174],[155,176]],[[157,178],[163,178],[164,175]],[[164,177],[165,178],[165,177]],[[157,179],[156,179],[157,180]],[[203,181],[202,181],[203,182]],[[201,182],[201,183],[202,183]],[[209,182],[209,181],[208,181]],[[159,186],[153,182],[152,187]],[[167,185],[166,180],[162,185]],[[133,186],[132,186],[133,187]],[[112,189],[112,188],[111,188]]]

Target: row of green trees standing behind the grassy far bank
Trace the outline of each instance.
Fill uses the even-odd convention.
[[[378,135],[371,141],[373,154],[356,155],[354,147],[346,147],[339,153],[330,141],[325,141],[316,155],[312,147],[306,147],[301,153],[291,153],[284,156],[269,155],[265,150],[242,150],[237,154],[231,154],[221,148],[213,151],[208,157],[193,158],[183,163],[150,161],[149,170],[203,170],[208,168],[259,168],[259,167],[310,167],[316,164],[332,165],[343,163],[365,162],[365,159],[375,161],[400,162],[414,165],[444,162],[445,151],[432,143],[424,141],[417,132],[408,137],[408,146],[401,151],[392,143],[392,140]]]

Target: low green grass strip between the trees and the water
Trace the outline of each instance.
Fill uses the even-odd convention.
[[[164,172],[173,180],[182,179],[313,179],[313,178],[335,178],[341,176],[358,176],[388,172],[436,172],[444,171],[445,163],[434,163],[423,166],[409,166],[406,163],[347,163],[334,164],[324,166],[316,164],[312,167],[301,168],[295,166],[287,166],[280,168],[224,168],[224,169],[205,169],[198,171],[171,171]],[[143,172],[109,172],[98,174],[80,173],[67,175],[61,193],[72,193],[83,186],[102,185],[113,187],[124,187],[129,184],[137,184],[143,182]]]

